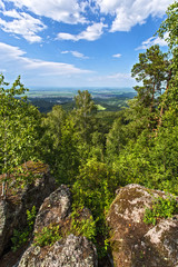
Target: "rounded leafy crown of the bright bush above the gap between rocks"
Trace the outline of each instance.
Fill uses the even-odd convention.
[[[101,218],[109,208],[116,188],[115,171],[106,164],[91,159],[80,168],[73,184],[75,207],[88,207],[95,219]]]

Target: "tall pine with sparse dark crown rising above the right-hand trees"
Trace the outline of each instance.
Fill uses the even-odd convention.
[[[169,79],[167,53],[162,53],[159,46],[152,46],[139,55],[139,62],[131,69],[131,76],[142,85],[135,87],[138,95],[130,101],[130,107],[136,117],[140,118],[144,115],[147,126],[151,129],[157,125],[160,96],[166,90]]]

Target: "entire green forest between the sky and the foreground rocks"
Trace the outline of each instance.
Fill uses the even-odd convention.
[[[105,214],[118,187],[139,184],[178,195],[178,3],[167,16],[158,36],[168,36],[169,53],[156,44],[139,55],[131,70],[140,81],[137,96],[118,112],[99,113],[91,95],[79,90],[71,111],[57,105],[41,115],[21,98],[26,89],[20,77],[7,89],[0,76],[2,196],[21,180],[31,182],[20,167],[23,162],[48,164],[57,182],[71,188],[72,210],[91,210],[101,256]],[[11,180],[14,170],[20,174],[17,182]]]

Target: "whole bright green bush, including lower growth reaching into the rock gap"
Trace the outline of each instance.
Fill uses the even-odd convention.
[[[108,248],[106,214],[115,197],[115,190],[118,185],[119,180],[115,171],[108,165],[98,162],[92,158],[80,168],[79,176],[72,187],[73,210],[87,207],[92,214],[93,224],[87,233],[89,231],[89,235],[95,234],[93,243],[97,245],[98,254],[101,257],[106,256]],[[80,224],[82,225],[82,222]],[[79,228],[81,227],[80,224]]]

